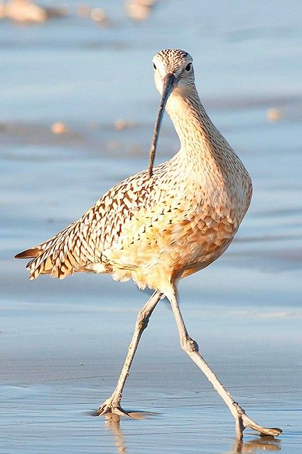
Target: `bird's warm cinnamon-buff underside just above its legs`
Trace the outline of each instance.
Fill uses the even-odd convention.
[[[205,268],[222,255],[237,222],[217,209],[159,218],[111,248],[107,257],[114,279],[133,279],[140,288],[163,289],[176,279]],[[129,231],[128,231],[129,232]]]

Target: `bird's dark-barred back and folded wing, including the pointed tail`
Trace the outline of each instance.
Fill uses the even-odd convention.
[[[170,162],[158,165],[151,179],[146,171],[125,179],[63,231],[17,254],[16,258],[32,259],[27,264],[30,279],[40,274],[63,279],[79,271],[114,272],[117,251],[126,254],[131,243],[139,243],[141,250],[146,230],[155,234],[156,221],[173,205],[173,197],[167,196],[169,167]],[[119,260],[130,268],[137,261],[126,255]]]

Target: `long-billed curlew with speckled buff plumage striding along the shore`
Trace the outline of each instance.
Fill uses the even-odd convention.
[[[155,290],[137,316],[117,387],[98,414],[129,416],[120,406],[126,377],[153,309],[166,296],[181,348],[229,407],[237,436],[242,438],[246,427],[277,436],[281,429],[252,421],[217,379],[188,335],[177,297],[180,279],[210,265],[230,245],[249,207],[251,179],[200,102],[192,57],[183,50],[161,50],[153,67],[162,97],[149,170],[124,179],[78,221],[16,258],[31,258],[30,279],[41,274],[63,279],[80,271],[110,273],[119,281],[133,279],[141,289]],[[165,107],[181,146],[171,160],[153,168]]]

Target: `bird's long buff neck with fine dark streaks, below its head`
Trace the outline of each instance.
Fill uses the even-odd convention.
[[[207,192],[209,204],[239,206],[242,218],[252,196],[249,173],[210,121],[196,89],[186,96],[174,90],[166,110],[180,139],[180,150],[171,161],[185,175],[184,188],[188,187],[188,181],[193,185],[198,182],[203,192]]]

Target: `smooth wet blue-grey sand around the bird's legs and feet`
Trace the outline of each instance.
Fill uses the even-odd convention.
[[[124,408],[144,419],[91,415],[112,392],[139,307],[138,297],[112,306],[102,293],[99,304],[2,304],[3,452],[300,452],[301,311],[183,304],[190,333],[234,396],[257,421],[284,429],[277,440],[247,430],[239,446],[232,416],[180,351],[164,302],[124,391]]]

